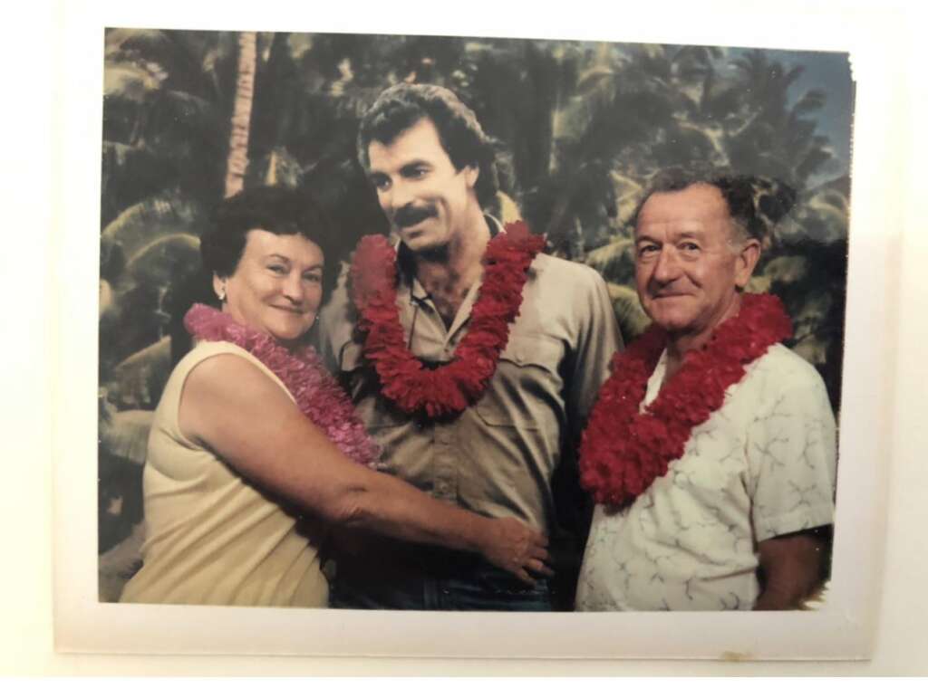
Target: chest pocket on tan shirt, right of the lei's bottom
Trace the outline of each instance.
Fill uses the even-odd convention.
[[[562,403],[559,373],[564,347],[544,335],[510,336],[499,356],[496,374],[474,406],[488,426],[535,429],[556,422],[554,405]]]

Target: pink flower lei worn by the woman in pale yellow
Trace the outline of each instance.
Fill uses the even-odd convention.
[[[380,457],[380,447],[367,435],[348,396],[313,347],[290,352],[270,335],[239,325],[226,313],[201,303],[187,311],[184,326],[195,338],[231,342],[264,363],[290,390],[303,415],[355,462],[371,465]]]

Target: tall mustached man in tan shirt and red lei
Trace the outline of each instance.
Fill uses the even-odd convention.
[[[399,241],[361,241],[322,315],[323,355],[386,470],[479,514],[519,518],[556,544],[552,480],[575,462],[619,346],[602,279],[542,254],[543,238],[522,224],[485,214],[495,143],[450,91],[387,89],[361,123],[358,154]],[[564,475],[576,485],[575,466]],[[574,580],[556,579],[571,597],[585,525]],[[343,542],[336,561],[335,606],[551,608],[548,567],[526,588],[476,557],[384,540]]]

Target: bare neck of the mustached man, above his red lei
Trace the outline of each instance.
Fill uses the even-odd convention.
[[[413,256],[422,287],[430,293],[448,289],[466,292],[483,274],[481,261],[489,241],[490,228],[477,207],[448,244]]]

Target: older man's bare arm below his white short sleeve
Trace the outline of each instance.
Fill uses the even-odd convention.
[[[780,535],[757,545],[763,592],[754,609],[798,609],[821,582],[825,543],[817,531]]]

